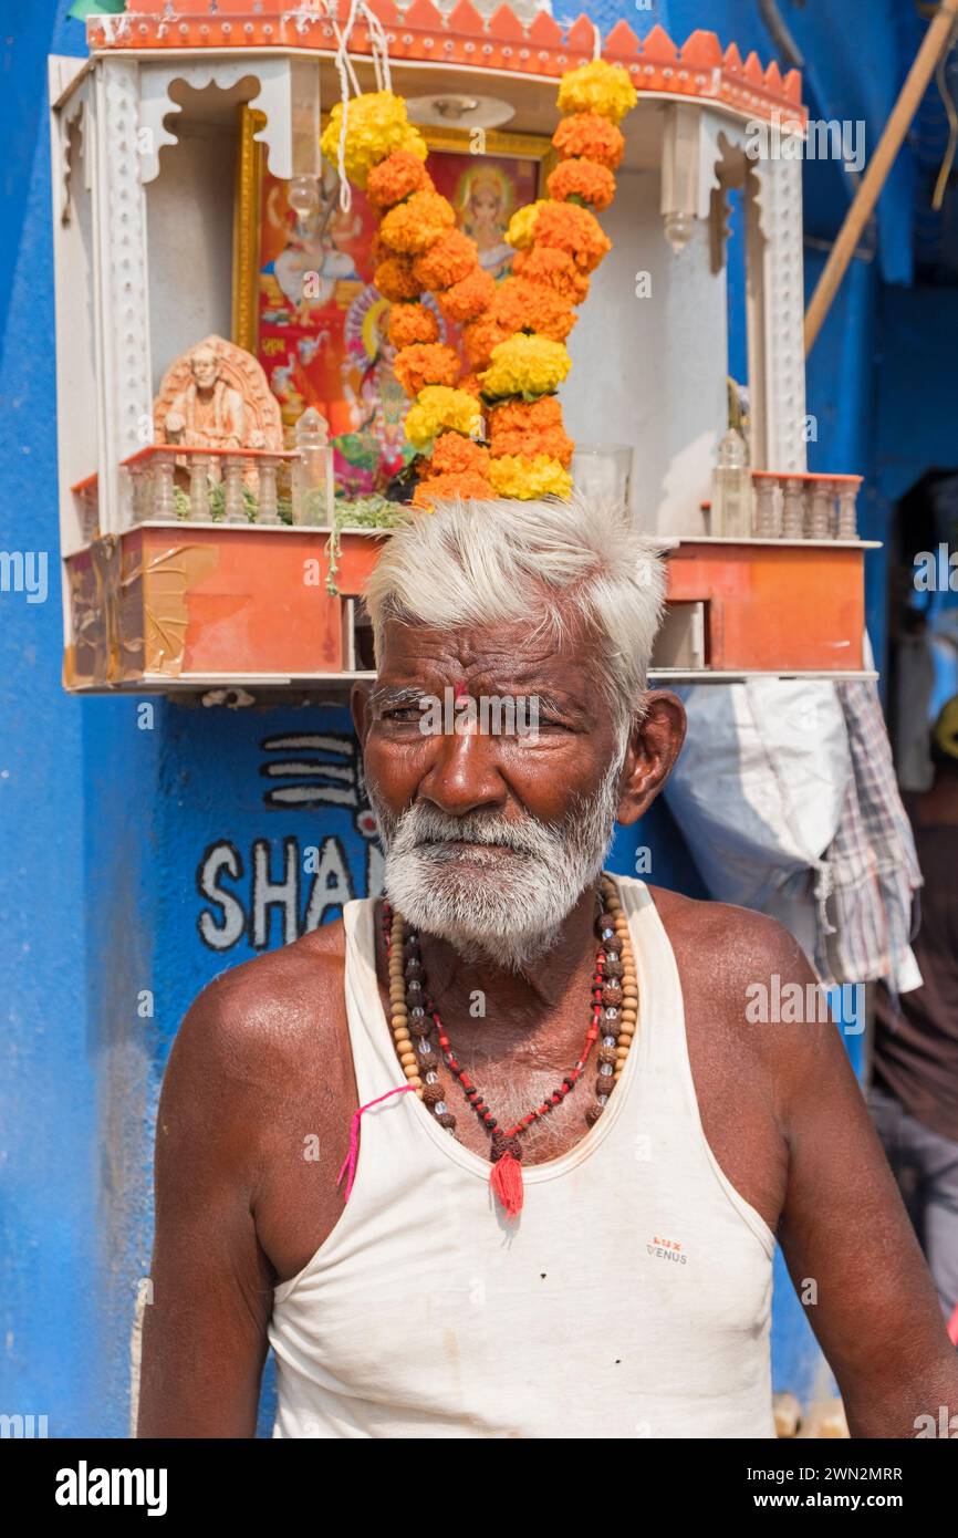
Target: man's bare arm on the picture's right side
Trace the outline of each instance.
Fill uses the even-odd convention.
[[[813,983],[780,932],[772,972]],[[958,1357],[835,1024],[769,1024],[775,1106],[789,1147],[778,1238],[838,1380],[852,1436],[915,1436],[958,1413]],[[810,1286],[813,1284],[813,1286]]]

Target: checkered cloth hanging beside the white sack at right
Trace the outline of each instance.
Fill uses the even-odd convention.
[[[826,981],[884,978],[893,994],[906,992],[921,981],[910,949],[921,886],[912,824],[898,794],[875,683],[840,683],[837,692],[852,775],[824,854],[827,923],[818,924],[815,963]]]

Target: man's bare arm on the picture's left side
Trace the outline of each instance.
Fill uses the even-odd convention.
[[[252,1218],[257,1075],[231,995],[229,974],[200,994],[163,1081],[137,1436],[255,1435],[274,1277]]]

